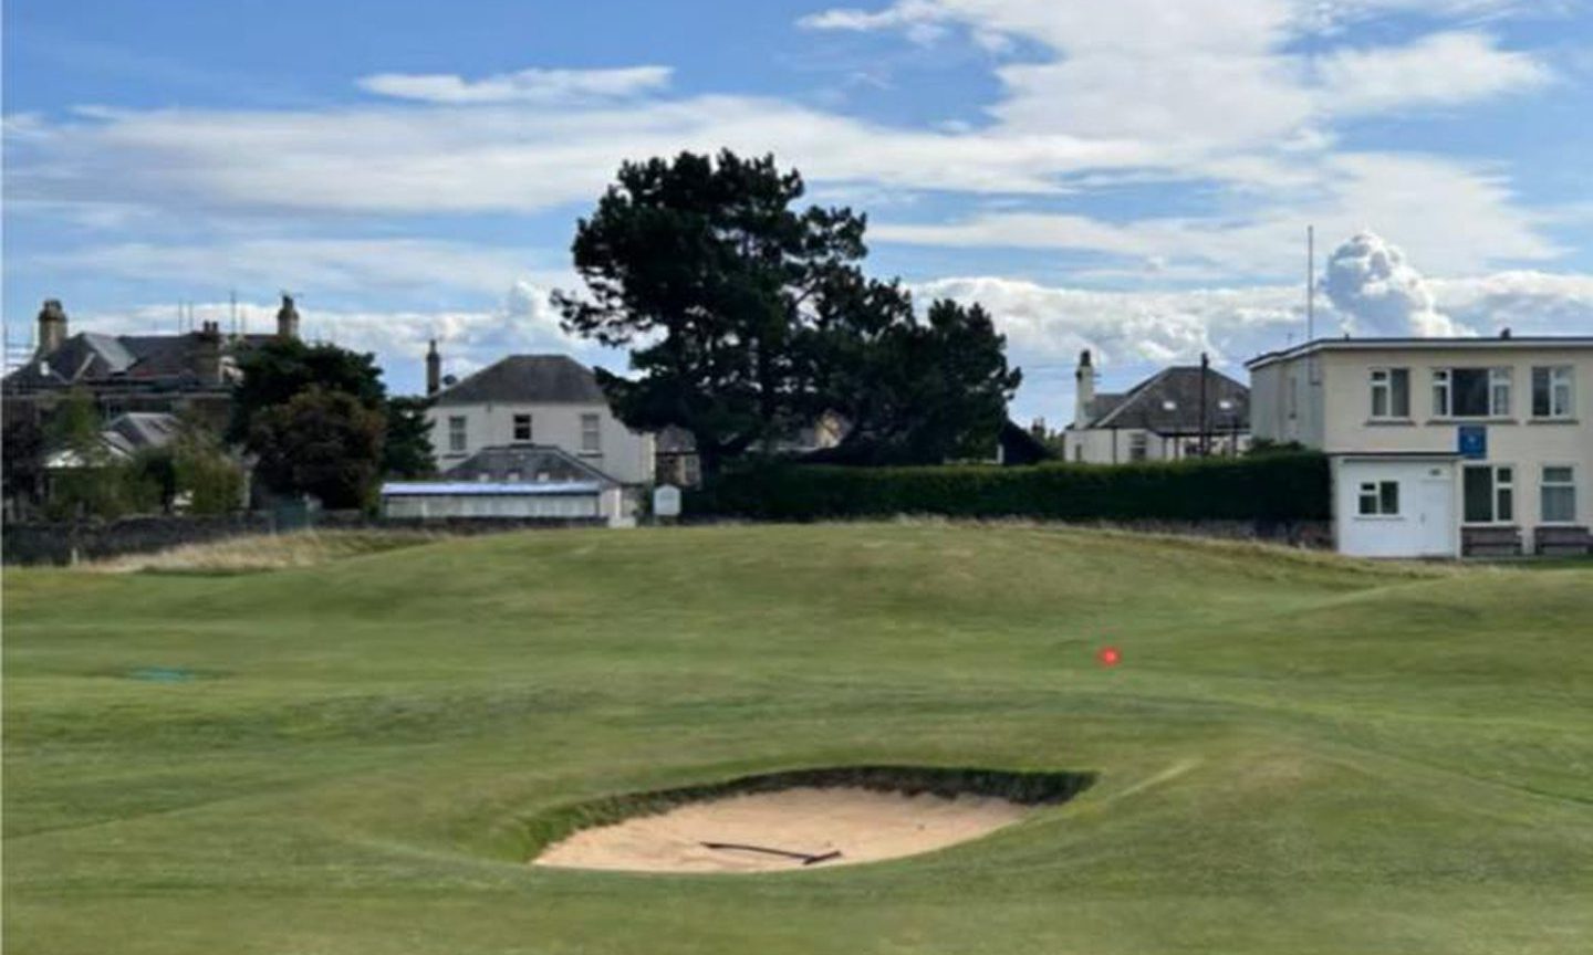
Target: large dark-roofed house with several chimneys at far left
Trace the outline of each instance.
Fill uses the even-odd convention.
[[[5,417],[41,422],[67,392],[84,388],[104,419],[190,412],[221,428],[237,355],[272,337],[298,337],[298,323],[293,299],[282,296],[276,336],[225,334],[217,322],[177,334],[72,334],[61,301],[49,299],[38,312],[38,349],[0,382]]]

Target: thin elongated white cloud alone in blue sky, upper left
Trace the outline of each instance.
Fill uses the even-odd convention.
[[[366,92],[429,103],[546,103],[653,92],[667,86],[672,73],[669,67],[521,70],[481,80],[456,73],[374,73],[362,76],[358,86]]]

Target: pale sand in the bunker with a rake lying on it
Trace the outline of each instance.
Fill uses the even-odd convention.
[[[792,788],[691,802],[666,813],[583,829],[548,847],[537,866],[634,872],[789,872],[930,852],[1016,823],[1034,807],[991,796],[906,796],[859,788]],[[820,856],[798,858],[733,842]]]

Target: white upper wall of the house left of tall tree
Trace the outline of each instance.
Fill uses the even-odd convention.
[[[653,436],[631,431],[607,404],[441,404],[427,409],[436,463],[448,470],[483,447],[515,444],[515,415],[530,415],[530,442],[551,444],[621,484],[653,481]],[[581,450],[581,415],[596,414],[601,452]],[[465,450],[449,444],[448,419],[465,419]]]

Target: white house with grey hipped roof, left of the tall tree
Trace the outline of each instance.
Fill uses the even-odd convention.
[[[591,369],[567,355],[510,355],[438,390],[427,417],[443,471],[486,447],[537,444],[632,490],[653,482],[653,436],[626,428]]]

